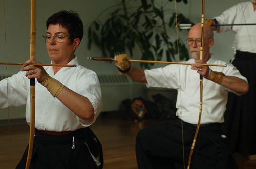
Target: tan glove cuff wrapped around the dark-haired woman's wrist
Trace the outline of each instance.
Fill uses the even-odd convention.
[[[53,97],[57,97],[61,90],[64,88],[61,82],[52,78],[47,74],[47,76],[42,79],[41,84],[47,88],[47,90],[52,94]]]

